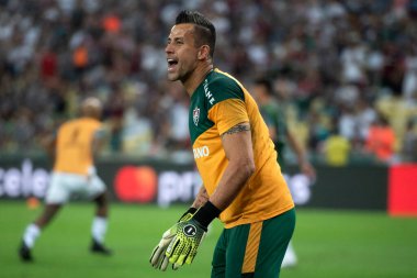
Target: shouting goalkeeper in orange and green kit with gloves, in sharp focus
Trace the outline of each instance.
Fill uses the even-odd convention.
[[[166,46],[168,79],[190,94],[189,129],[203,187],[180,221],[154,249],[165,270],[191,264],[208,224],[225,229],[212,277],[278,277],[295,225],[294,203],[258,107],[235,78],[213,66],[215,29],[182,11]],[[169,263],[168,263],[169,262]]]

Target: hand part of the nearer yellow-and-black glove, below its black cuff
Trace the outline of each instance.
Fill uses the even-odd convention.
[[[179,222],[176,226],[176,237],[169,244],[166,256],[169,258],[169,263],[173,265],[191,264],[207,232],[207,227],[194,219]]]

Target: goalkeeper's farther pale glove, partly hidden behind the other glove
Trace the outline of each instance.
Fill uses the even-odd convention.
[[[184,214],[181,215],[181,218],[178,220],[178,222],[188,221],[192,218],[192,215],[195,213],[195,208],[190,208],[188,211],[185,211]],[[171,243],[176,235],[177,231],[177,224],[168,229],[164,234],[162,238],[158,243],[158,245],[154,248],[153,254],[150,255],[149,263],[153,267],[160,269],[165,271],[168,267],[168,257],[165,255],[168,245]],[[173,264],[172,269],[177,270],[178,265]]]

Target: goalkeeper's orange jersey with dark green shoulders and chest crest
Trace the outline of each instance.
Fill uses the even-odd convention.
[[[194,159],[208,196],[228,164],[221,135],[236,124],[250,123],[256,170],[222,212],[226,227],[263,221],[294,207],[268,126],[253,98],[235,78],[218,69],[207,74],[191,96],[189,116]]]

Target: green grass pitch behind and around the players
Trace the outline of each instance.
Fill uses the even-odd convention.
[[[33,255],[23,264],[18,246],[24,227],[41,213],[24,202],[0,202],[0,278],[158,278],[210,277],[212,252],[222,226],[216,221],[191,266],[160,273],[148,256],[161,233],[185,207],[113,204],[106,243],[112,257],[88,252],[93,205],[70,203],[43,232]],[[298,265],[282,278],[412,278],[417,277],[417,220],[383,212],[297,211],[293,241]]]

